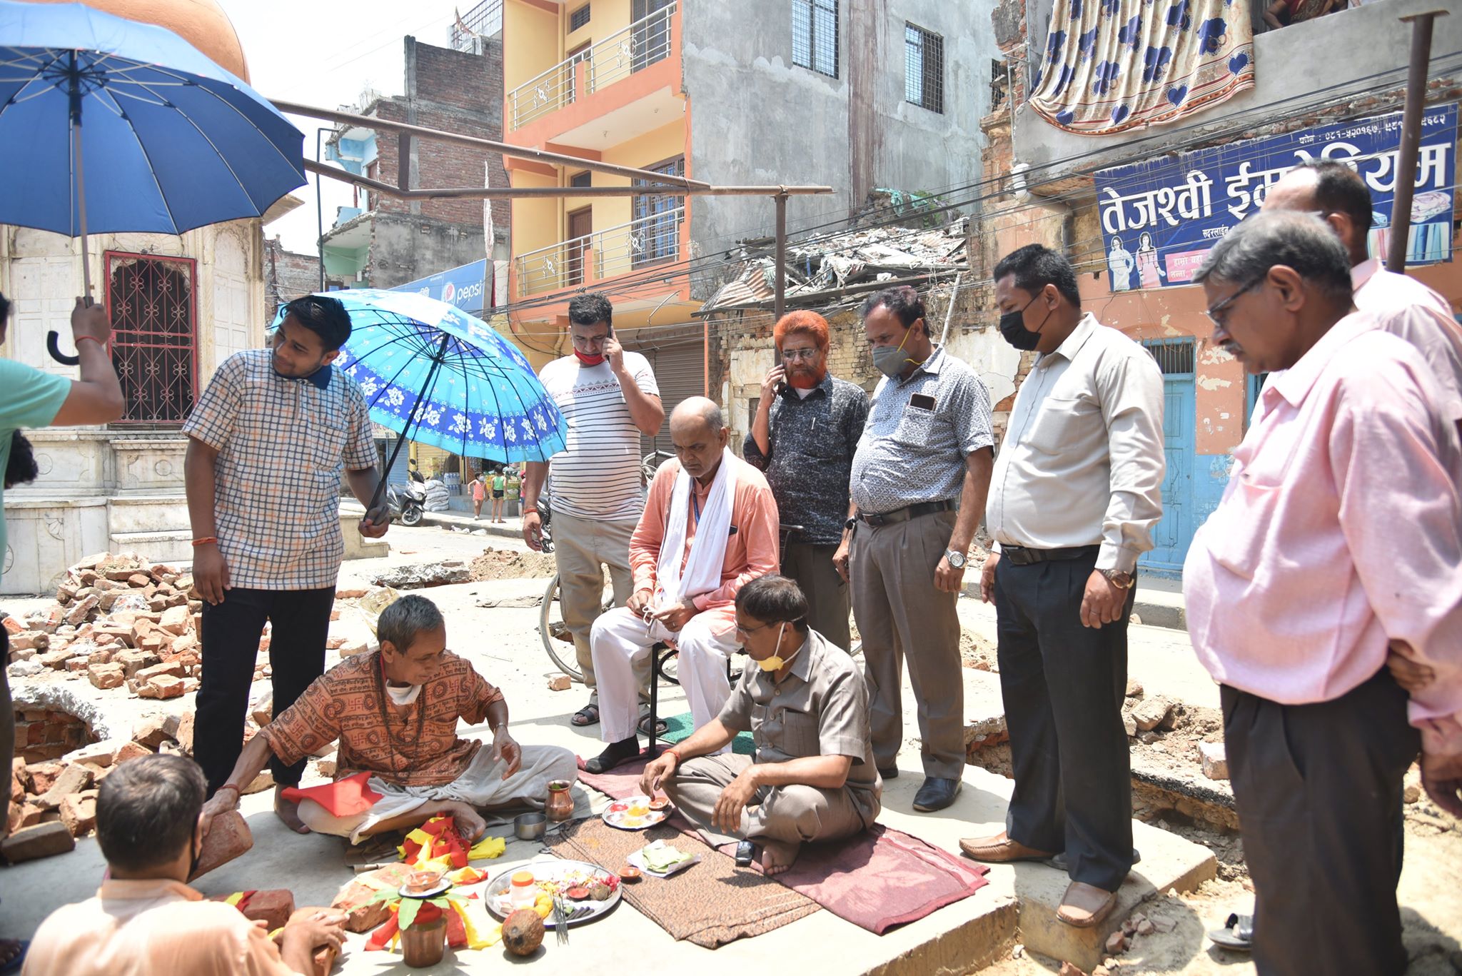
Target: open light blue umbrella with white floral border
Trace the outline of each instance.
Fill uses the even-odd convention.
[[[553,397],[523,354],[481,319],[409,291],[322,294],[351,315],[335,366],[360,383],[371,420],[401,435],[387,473],[408,439],[501,461],[547,461],[564,449],[569,426]],[[281,320],[284,306],[275,328]]]

